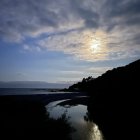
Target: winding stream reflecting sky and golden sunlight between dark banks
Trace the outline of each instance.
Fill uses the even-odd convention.
[[[69,117],[71,126],[76,130],[71,134],[72,140],[103,140],[98,126],[90,121],[87,106],[80,103],[70,105],[69,102],[71,100],[56,101],[47,105],[50,117],[57,119],[64,113]]]

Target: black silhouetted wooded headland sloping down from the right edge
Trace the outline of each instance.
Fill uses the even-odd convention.
[[[84,78],[69,87],[90,96],[89,119],[99,125],[106,140],[139,137],[140,60],[114,68],[93,79]]]

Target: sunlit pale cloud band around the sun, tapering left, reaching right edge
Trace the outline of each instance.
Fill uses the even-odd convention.
[[[114,29],[110,33],[84,29],[47,37],[38,41],[37,45],[41,50],[59,51],[77,59],[94,62],[139,56],[138,36],[139,31],[136,34],[131,29]],[[97,45],[94,38],[101,40],[95,51],[92,48],[92,45]]]

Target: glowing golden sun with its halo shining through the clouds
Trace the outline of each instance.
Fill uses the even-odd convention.
[[[105,31],[97,30],[91,31],[88,30],[84,33],[82,40],[82,45],[79,47],[79,58],[84,56],[85,60],[97,61],[103,60],[108,57],[108,34]],[[79,45],[79,46],[80,46]]]

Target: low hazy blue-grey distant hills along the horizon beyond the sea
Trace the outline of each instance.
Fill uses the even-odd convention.
[[[67,83],[47,83],[40,81],[0,82],[0,88],[68,88]]]

